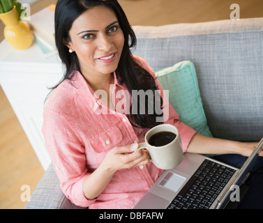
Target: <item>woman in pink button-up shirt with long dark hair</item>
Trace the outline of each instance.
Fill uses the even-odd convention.
[[[145,105],[163,108],[165,98],[156,100],[163,90],[147,63],[131,55],[135,34],[117,1],[59,0],[55,38],[66,72],[45,107],[43,134],[61,189],[77,206],[133,208],[163,172],[146,151],[133,153],[163,114],[147,106],[138,112],[132,92],[151,90]],[[123,91],[128,97],[117,97]],[[255,148],[204,137],[180,123],[171,105],[168,112],[165,123],[178,128],[184,152],[248,156]]]

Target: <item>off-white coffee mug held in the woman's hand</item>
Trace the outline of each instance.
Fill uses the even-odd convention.
[[[149,139],[158,132],[162,132],[162,134],[165,134],[165,132],[172,132],[176,134],[176,136],[170,143],[163,146],[153,146],[149,144]],[[153,162],[153,164],[155,164],[159,169],[172,169],[178,166],[183,160],[181,138],[177,128],[174,127],[174,125],[157,125],[146,133],[144,139],[145,142],[140,143],[139,147],[135,151],[146,148],[151,156],[151,162]]]

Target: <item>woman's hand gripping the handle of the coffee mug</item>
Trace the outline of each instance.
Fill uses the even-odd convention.
[[[148,164],[150,161],[149,153],[144,150],[133,152],[137,148],[138,144],[116,146],[107,153],[101,165],[106,169],[115,172],[120,169],[129,169]]]

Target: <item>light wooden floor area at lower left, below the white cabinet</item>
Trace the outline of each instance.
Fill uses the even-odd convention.
[[[44,170],[1,87],[0,117],[0,208],[24,208],[21,187],[32,192]]]

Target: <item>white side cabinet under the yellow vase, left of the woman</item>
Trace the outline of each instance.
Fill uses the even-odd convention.
[[[41,132],[44,102],[50,89],[63,76],[59,57],[45,59],[38,45],[17,51],[6,40],[0,44],[0,84],[13,107],[40,163],[47,169],[51,160]]]

